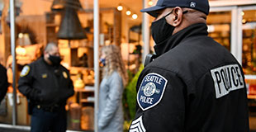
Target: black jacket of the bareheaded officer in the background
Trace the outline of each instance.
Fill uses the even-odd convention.
[[[22,69],[18,89],[33,105],[63,106],[73,95],[73,82],[66,68],[55,68],[42,57]]]

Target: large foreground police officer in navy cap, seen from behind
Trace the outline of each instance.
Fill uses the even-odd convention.
[[[140,73],[130,132],[249,131],[244,73],[208,37],[208,0],[159,0],[154,16],[158,56]]]

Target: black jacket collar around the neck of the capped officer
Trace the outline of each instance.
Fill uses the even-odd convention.
[[[197,23],[192,26],[187,26],[182,31],[178,31],[178,33],[171,35],[163,42],[154,45],[154,51],[158,56],[160,56],[161,54],[166,53],[168,50],[173,49],[188,37],[196,35],[208,35],[207,26],[205,23]]]

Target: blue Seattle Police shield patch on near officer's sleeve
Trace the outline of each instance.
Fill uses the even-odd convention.
[[[158,73],[149,73],[143,78],[137,93],[137,102],[145,111],[161,101],[168,80]]]

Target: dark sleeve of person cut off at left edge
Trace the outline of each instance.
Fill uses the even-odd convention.
[[[8,82],[7,82],[7,69],[0,64],[0,102],[7,93]]]

